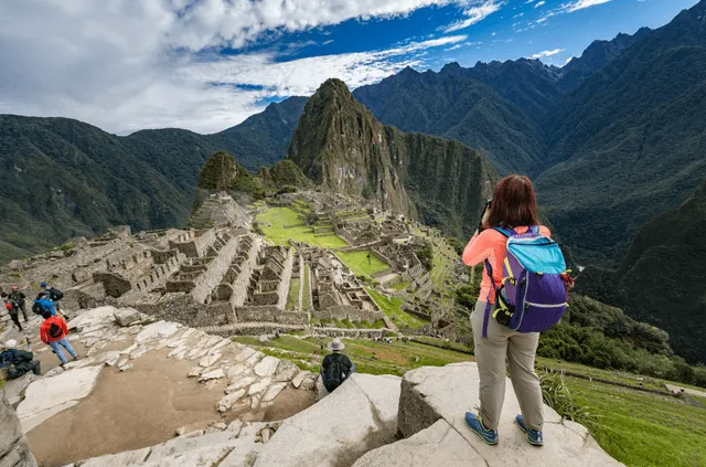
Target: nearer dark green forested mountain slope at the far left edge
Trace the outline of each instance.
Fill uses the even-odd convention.
[[[117,224],[183,221],[188,198],[119,138],[65,118],[0,116],[0,258]]]

